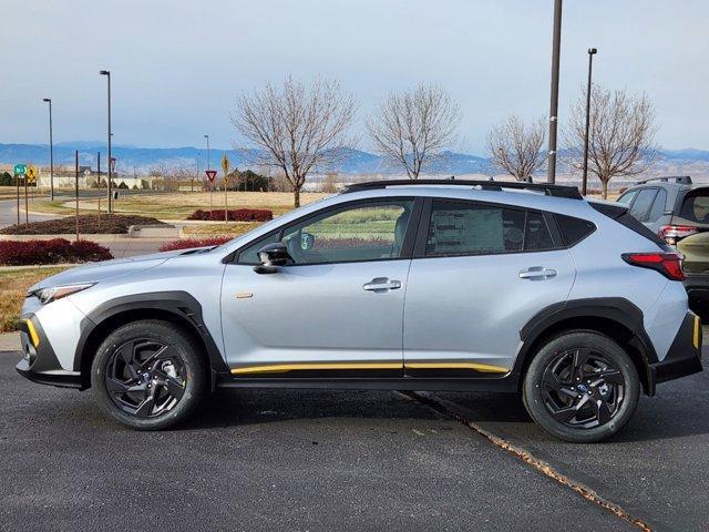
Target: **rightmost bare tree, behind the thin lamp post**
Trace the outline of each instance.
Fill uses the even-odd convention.
[[[655,162],[655,110],[645,94],[629,95],[594,84],[590,92],[588,172],[600,181],[602,195],[616,175],[640,174]],[[571,164],[580,168],[586,135],[586,88],[572,108],[566,142]]]

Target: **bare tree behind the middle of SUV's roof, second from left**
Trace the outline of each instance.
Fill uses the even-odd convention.
[[[403,166],[411,180],[450,147],[461,121],[458,103],[440,86],[392,93],[367,121],[377,152]]]

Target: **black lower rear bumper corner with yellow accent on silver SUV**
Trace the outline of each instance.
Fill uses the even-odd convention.
[[[687,313],[667,356],[649,365],[654,385],[697,374],[701,367],[701,323],[693,313]]]

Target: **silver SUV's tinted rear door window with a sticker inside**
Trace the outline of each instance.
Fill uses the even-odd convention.
[[[540,213],[520,208],[434,201],[425,255],[490,255],[553,248]]]

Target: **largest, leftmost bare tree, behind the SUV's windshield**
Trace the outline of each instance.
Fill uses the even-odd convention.
[[[286,78],[281,86],[267,84],[242,94],[232,123],[258,150],[256,164],[278,168],[288,180],[295,206],[309,172],[339,161],[356,111],[354,99],[333,80],[306,86]]]

